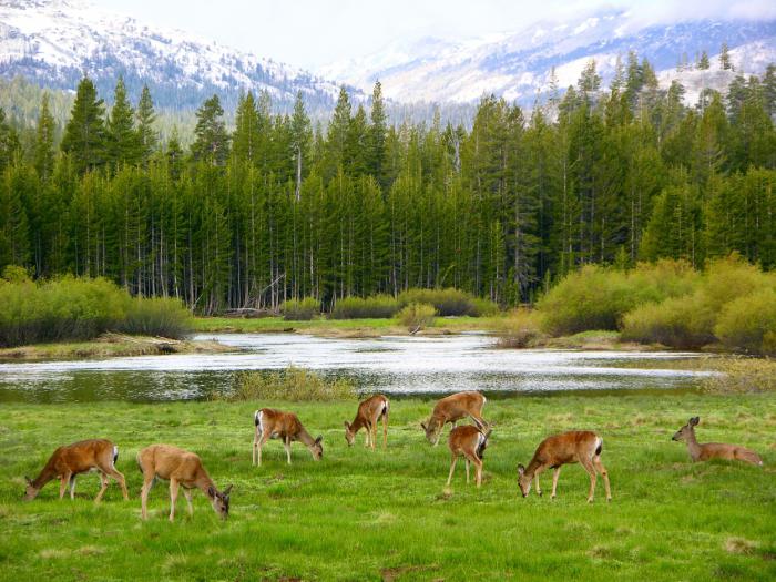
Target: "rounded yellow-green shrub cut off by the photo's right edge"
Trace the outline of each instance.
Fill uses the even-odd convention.
[[[765,288],[727,303],[714,334],[728,349],[776,355],[776,290]]]

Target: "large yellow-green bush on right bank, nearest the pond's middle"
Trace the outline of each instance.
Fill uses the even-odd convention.
[[[614,330],[631,309],[691,293],[697,278],[681,261],[641,264],[630,272],[588,265],[550,289],[537,307],[552,335]]]

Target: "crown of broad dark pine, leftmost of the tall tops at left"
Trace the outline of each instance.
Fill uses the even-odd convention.
[[[70,154],[75,171],[83,173],[105,163],[105,108],[96,88],[84,76],[78,85],[70,120],[64,127],[62,151]]]

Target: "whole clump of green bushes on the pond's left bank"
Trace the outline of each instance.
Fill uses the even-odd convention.
[[[172,299],[132,299],[102,278],[67,276],[33,283],[16,275],[0,279],[3,347],[84,340],[114,330],[167,337],[188,330],[187,312]]]

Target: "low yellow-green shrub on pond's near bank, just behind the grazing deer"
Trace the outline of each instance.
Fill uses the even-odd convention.
[[[213,396],[214,399],[229,401],[288,400],[293,402],[351,400],[356,397],[356,387],[350,380],[327,379],[320,374],[294,366],[279,371],[241,372],[235,379],[233,392]]]

